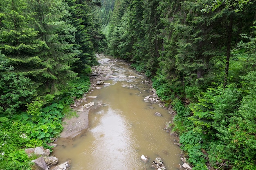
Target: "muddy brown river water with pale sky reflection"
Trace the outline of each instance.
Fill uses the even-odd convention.
[[[175,137],[164,130],[171,114],[159,104],[144,101],[152,94],[150,86],[141,83],[147,79],[127,63],[103,55],[98,61],[111,75],[104,80],[107,85],[98,85],[101,89],[86,96],[97,96],[85,102],[94,102],[89,127],[76,137],[59,138],[52,155],[60,163],[71,159],[71,170],[150,170],[156,157],[166,169],[177,170],[180,148],[174,144]],[[155,116],[156,112],[162,116]],[[141,155],[149,161],[142,161]]]

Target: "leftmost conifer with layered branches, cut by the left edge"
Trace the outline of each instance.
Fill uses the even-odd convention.
[[[38,76],[45,68],[38,52],[43,41],[38,39],[38,31],[31,28],[34,15],[25,0],[6,0],[0,9],[1,30],[0,49],[9,59],[13,71],[27,76]]]

